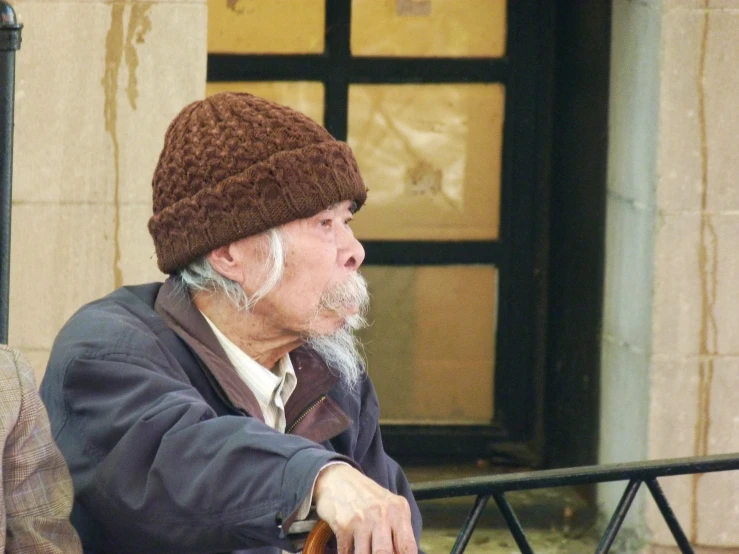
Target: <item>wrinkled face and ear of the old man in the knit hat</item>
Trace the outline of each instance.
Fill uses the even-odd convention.
[[[349,227],[353,203],[344,201],[313,217],[292,221],[281,228],[285,269],[277,286],[262,298],[252,313],[271,327],[302,337],[326,335],[341,328],[359,306],[343,299],[322,305],[337,285],[356,277],[364,261],[364,248]],[[254,241],[247,247],[255,248]],[[263,249],[263,246],[262,246]],[[263,258],[262,254],[262,258]],[[259,258],[258,252],[246,259]],[[242,287],[253,293],[263,280],[263,263],[244,267]]]

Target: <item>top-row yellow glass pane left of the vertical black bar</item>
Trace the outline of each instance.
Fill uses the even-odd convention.
[[[323,52],[326,0],[208,0],[208,52]]]

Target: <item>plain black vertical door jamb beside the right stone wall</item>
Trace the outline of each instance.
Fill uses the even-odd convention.
[[[557,0],[544,464],[597,462],[611,0]]]

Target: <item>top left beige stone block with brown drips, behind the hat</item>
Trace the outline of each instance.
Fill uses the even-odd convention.
[[[206,6],[21,2],[17,11],[14,198],[151,201],[167,125],[204,95]]]

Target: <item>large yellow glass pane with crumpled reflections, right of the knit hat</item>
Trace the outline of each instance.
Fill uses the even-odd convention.
[[[499,84],[351,86],[348,141],[369,188],[357,236],[496,239],[503,104]]]

